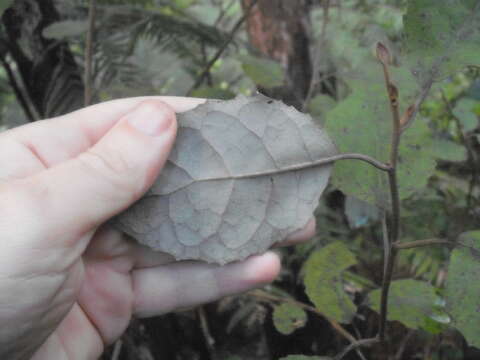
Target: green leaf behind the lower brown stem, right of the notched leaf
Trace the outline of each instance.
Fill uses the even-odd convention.
[[[381,289],[377,289],[367,298],[368,305],[377,312],[380,311],[380,296]],[[421,329],[431,321],[436,300],[435,288],[427,282],[412,279],[393,281],[388,298],[388,320]]]

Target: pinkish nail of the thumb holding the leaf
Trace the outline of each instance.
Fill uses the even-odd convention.
[[[158,136],[170,128],[173,112],[158,101],[146,101],[127,115],[128,123],[148,136]]]

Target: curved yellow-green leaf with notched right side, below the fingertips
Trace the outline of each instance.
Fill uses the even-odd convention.
[[[305,291],[325,316],[349,323],[356,306],[343,289],[342,273],[355,265],[355,255],[341,242],[314,252],[305,262]]]

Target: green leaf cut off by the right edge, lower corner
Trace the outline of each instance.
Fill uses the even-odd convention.
[[[445,289],[446,307],[452,325],[470,345],[480,347],[480,230],[462,234],[459,242],[468,247],[452,251]]]

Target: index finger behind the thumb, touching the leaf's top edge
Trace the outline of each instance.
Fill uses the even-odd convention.
[[[175,112],[204,99],[140,97],[114,100],[0,134],[0,180],[22,178],[71,159],[96,144],[122,117],[144,101],[162,101]]]

